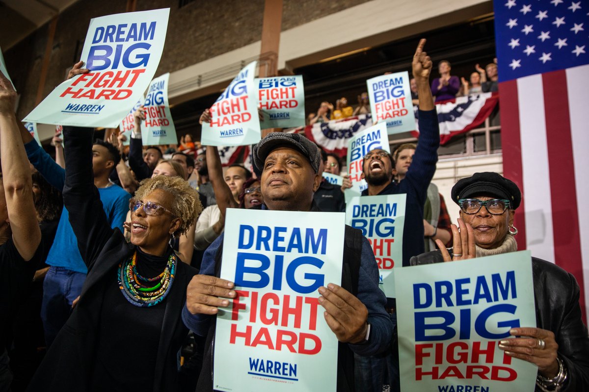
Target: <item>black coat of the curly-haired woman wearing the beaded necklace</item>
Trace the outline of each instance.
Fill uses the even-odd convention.
[[[68,149],[64,205],[70,213],[70,223],[78,239],[82,259],[88,266],[88,277],[82,287],[80,301],[47,352],[29,384],[29,391],[88,390],[96,358],[105,289],[116,279],[118,264],[135,251],[135,246],[125,241],[120,230],[111,229],[108,225],[98,189],[92,182],[92,130],[64,127],[64,133]],[[178,371],[178,347],[174,349],[170,342],[181,339],[188,332],[180,314],[186,302],[186,287],[196,270],[182,262],[178,262],[176,268],[173,286],[166,297],[155,369],[145,369],[154,372],[153,391],[173,389]],[[133,331],[122,333],[131,336]],[[121,352],[112,355],[125,355],[124,351],[123,347]],[[132,353],[132,347],[130,351]]]

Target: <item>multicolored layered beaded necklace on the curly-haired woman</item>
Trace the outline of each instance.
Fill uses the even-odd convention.
[[[176,254],[172,252],[164,272],[147,278],[137,272],[137,251],[130,259],[118,264],[118,288],[131,304],[154,306],[166,298],[176,276]]]

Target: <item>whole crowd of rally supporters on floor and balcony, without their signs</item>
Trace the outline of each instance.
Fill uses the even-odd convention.
[[[412,61],[418,143],[370,150],[362,196],[407,195],[403,267],[514,252],[521,193],[513,182],[477,173],[456,183],[458,225],[431,182],[435,102],[496,91],[497,66],[477,66],[461,84],[441,61],[430,83],[424,46]],[[85,72],[78,65],[68,77]],[[345,212],[352,184],[340,157],[299,133],[272,132],[253,147],[253,170],[224,169],[217,148],[190,135],[166,150],[144,146],[140,107],[128,148],[123,135],[100,140],[94,129],[64,126],[54,160],[16,120],[15,101],[0,73],[0,391],[212,391],[214,316],[236,297],[234,282],[219,277],[227,208]],[[358,103],[323,102],[310,123],[369,112],[368,94]],[[207,109],[200,123],[210,120]],[[343,185],[323,173],[344,175]],[[379,289],[360,230],[346,226],[342,246],[342,284],[326,282],[317,293],[339,341],[337,390],[398,391],[402,296]],[[499,347],[538,367],[538,390],[587,390],[578,284],[544,260],[532,257],[532,266],[537,327],[512,329],[517,337]]]

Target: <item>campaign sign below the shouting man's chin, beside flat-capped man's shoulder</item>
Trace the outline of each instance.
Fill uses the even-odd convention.
[[[396,298],[393,267],[403,266],[403,227],[407,194],[353,197],[346,204],[346,224],[368,238],[379,272],[379,287]]]

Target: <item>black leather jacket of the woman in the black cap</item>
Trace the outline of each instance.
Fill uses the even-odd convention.
[[[439,250],[411,257],[411,265],[444,262]],[[552,331],[558,356],[568,370],[561,392],[589,391],[589,337],[581,319],[579,285],[561,267],[532,257],[536,325]],[[539,388],[536,388],[540,391]]]

